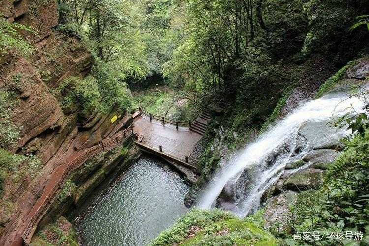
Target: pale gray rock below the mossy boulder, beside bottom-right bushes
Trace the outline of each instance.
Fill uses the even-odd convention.
[[[286,228],[289,205],[295,204],[297,193],[288,191],[268,199],[265,203],[264,228],[269,229],[278,222],[278,229]]]

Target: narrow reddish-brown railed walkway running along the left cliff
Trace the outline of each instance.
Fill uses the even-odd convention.
[[[102,151],[109,151],[116,147],[117,145],[120,145],[128,139],[129,137],[133,137],[133,125],[125,129],[122,133],[118,134],[116,137],[110,139],[107,142],[103,142],[99,145],[96,145],[89,150],[86,150],[82,152],[80,155],[78,155],[76,158],[74,158],[72,161],[66,163],[68,168],[64,169],[62,176],[59,178],[59,180],[55,183],[53,189],[51,190],[50,194],[46,196],[46,199],[41,204],[40,207],[37,208],[37,211],[35,212],[34,216],[31,218],[28,218],[24,223],[26,223],[26,229],[24,230],[22,234],[22,239],[25,242],[26,245],[29,245],[31,242],[31,238],[33,236],[33,233],[36,230],[36,227],[39,223],[39,221],[42,219],[42,217],[47,213],[49,206],[53,203],[53,201],[56,199],[57,192],[63,187],[65,183],[66,177],[74,171],[74,169],[78,168],[81,163],[83,163],[88,158],[91,158],[95,156],[98,153],[101,153]],[[51,198],[50,198],[51,197]]]

